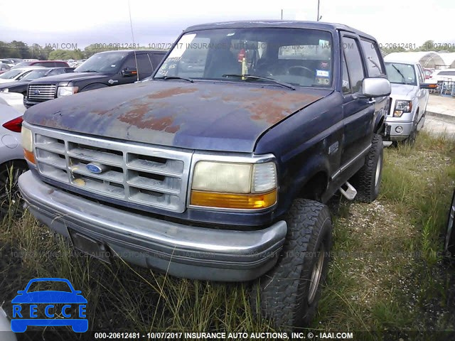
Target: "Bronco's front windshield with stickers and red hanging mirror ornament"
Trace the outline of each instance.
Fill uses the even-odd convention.
[[[303,28],[219,28],[186,33],[154,79],[244,81],[269,77],[301,87],[331,87],[331,33]],[[255,80],[267,82],[267,80]]]

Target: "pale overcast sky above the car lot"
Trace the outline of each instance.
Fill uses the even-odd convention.
[[[318,0],[0,0],[0,40],[80,49],[90,43],[132,43],[128,4],[134,42],[151,47],[173,43],[183,29],[198,23],[280,19],[282,11],[284,20],[316,21]],[[321,21],[352,26],[382,45],[418,47],[430,39],[455,44],[454,14],[454,0],[320,0]]]

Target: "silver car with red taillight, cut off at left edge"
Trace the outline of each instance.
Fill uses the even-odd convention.
[[[21,146],[22,114],[0,98],[0,218],[18,204],[17,180],[26,171]],[[20,212],[20,205],[14,206]]]

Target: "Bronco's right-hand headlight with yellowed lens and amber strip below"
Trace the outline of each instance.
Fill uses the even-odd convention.
[[[277,202],[275,163],[198,161],[191,186],[191,205],[261,209]]]

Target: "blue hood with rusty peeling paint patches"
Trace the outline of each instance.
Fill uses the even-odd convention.
[[[161,146],[252,152],[259,136],[330,90],[156,80],[37,104],[30,124]]]

